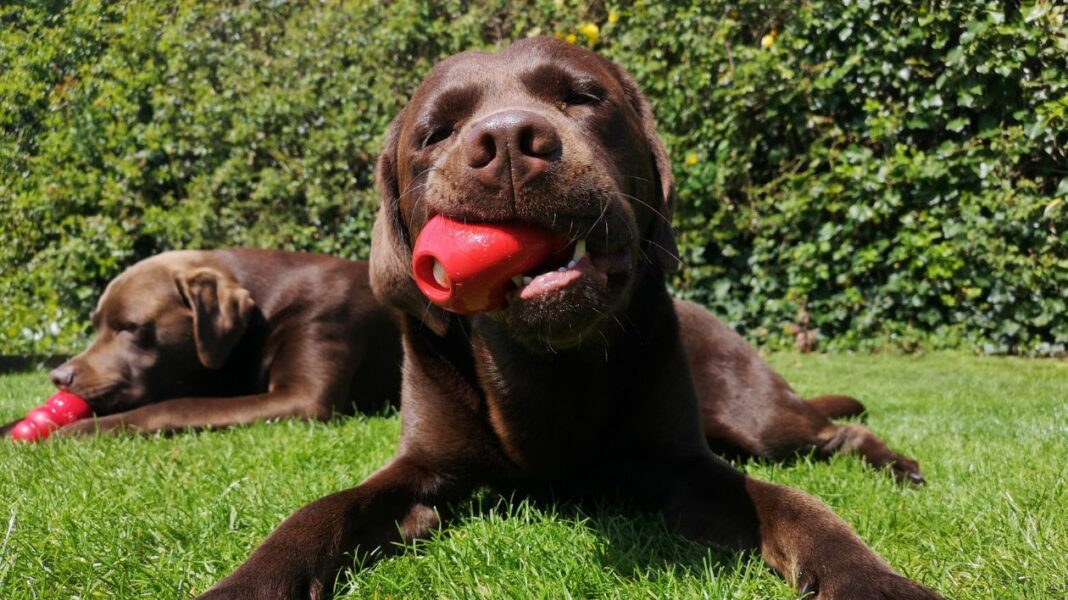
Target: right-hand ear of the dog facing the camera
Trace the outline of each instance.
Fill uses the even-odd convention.
[[[675,216],[675,206],[678,199],[675,195],[675,177],[671,172],[671,159],[668,158],[668,149],[664,147],[663,142],[660,141],[659,133],[657,133],[653,107],[649,105],[648,99],[646,99],[645,94],[642,93],[638,83],[623,67],[612,62],[609,62],[609,64],[615,73],[616,79],[623,84],[624,93],[627,94],[627,100],[642,122],[642,133],[645,136],[645,142],[653,153],[653,156],[649,158],[653,160],[653,165],[656,170],[655,176],[658,186],[658,200],[660,202],[656,209],[659,215],[653,216],[653,220],[645,231],[645,243],[650,247],[649,251],[651,255],[656,257],[657,263],[664,272],[676,271],[682,265],[682,260],[679,258],[678,244],[675,242],[675,230],[672,227],[672,218]]]

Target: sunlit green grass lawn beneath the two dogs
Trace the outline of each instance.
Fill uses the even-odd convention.
[[[1068,597],[1068,363],[770,357],[802,394],[855,394],[868,424],[920,460],[895,486],[853,457],[754,475],[830,504],[897,569],[947,598]],[[0,419],[49,392],[0,378]],[[163,438],[0,443],[0,598],[186,598],[285,516],[386,462],[395,415]],[[483,494],[400,556],[343,575],[342,596],[792,598],[753,557],[709,552],[654,519]]]

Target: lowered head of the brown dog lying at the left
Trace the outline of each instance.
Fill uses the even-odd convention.
[[[52,370],[97,414],[192,393],[244,335],[254,303],[195,252],[170,252],[115,278],[93,313],[89,348]]]

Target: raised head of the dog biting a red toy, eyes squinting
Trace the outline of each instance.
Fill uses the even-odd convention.
[[[619,66],[552,38],[438,63],[390,126],[377,184],[375,294],[439,333],[446,317],[411,275],[412,242],[436,215],[536,224],[588,254],[527,273],[490,315],[553,346],[623,310],[639,273],[678,264],[674,181],[648,101]],[[567,277],[538,279],[560,268]]]

